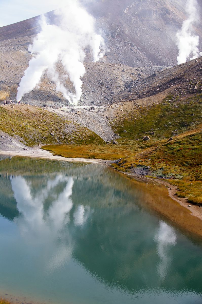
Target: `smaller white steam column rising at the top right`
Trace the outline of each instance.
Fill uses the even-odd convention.
[[[197,0],[187,0],[186,2],[188,19],[183,22],[182,29],[176,34],[177,46],[179,48],[178,64],[186,62],[190,56],[193,56],[190,58],[192,60],[202,55],[202,52],[198,49],[199,36],[193,34],[193,25],[199,18],[197,5]]]

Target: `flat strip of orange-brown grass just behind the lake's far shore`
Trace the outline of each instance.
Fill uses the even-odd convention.
[[[131,154],[125,148],[115,145],[49,145],[42,147],[63,157],[82,157],[82,158],[96,158],[105,160],[117,160]]]

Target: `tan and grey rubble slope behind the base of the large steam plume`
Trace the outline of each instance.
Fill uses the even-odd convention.
[[[16,98],[17,87],[23,77],[25,69],[28,67],[33,55],[27,50],[29,42],[28,37],[20,40],[4,40],[0,42],[0,88],[10,91],[10,98]],[[29,37],[30,41],[33,37]],[[83,80],[83,96],[80,104],[85,105],[106,105],[111,101],[113,94],[124,89],[127,81],[134,81],[140,77],[145,77],[147,70],[124,66],[123,64],[107,64],[104,62],[85,63],[86,74]],[[62,67],[57,66],[61,73]],[[63,71],[63,74],[65,72]],[[7,86],[7,87],[6,87]],[[74,91],[70,81],[65,86]],[[35,88],[23,98],[23,102],[36,105],[66,105],[66,101],[61,93],[55,91],[56,86],[47,78],[45,74],[41,79],[39,88]],[[6,96],[8,97],[8,96]],[[2,100],[5,97],[2,97]],[[1,98],[0,98],[1,100]]]

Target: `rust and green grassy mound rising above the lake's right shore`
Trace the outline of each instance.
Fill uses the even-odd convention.
[[[190,134],[178,136],[169,142],[162,140],[155,147],[125,157],[113,166],[121,171],[149,166],[151,176],[176,178],[180,175],[190,180],[202,180],[202,132],[190,131]],[[161,174],[155,174],[159,170]]]

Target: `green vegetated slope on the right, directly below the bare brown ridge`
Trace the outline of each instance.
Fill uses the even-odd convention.
[[[138,107],[124,120],[116,120],[114,131],[124,140],[142,139],[149,135],[151,140],[161,140],[193,130],[202,119],[202,94],[179,101],[169,95],[158,105]],[[124,130],[127,133],[124,133]],[[152,134],[154,132],[154,134]]]

